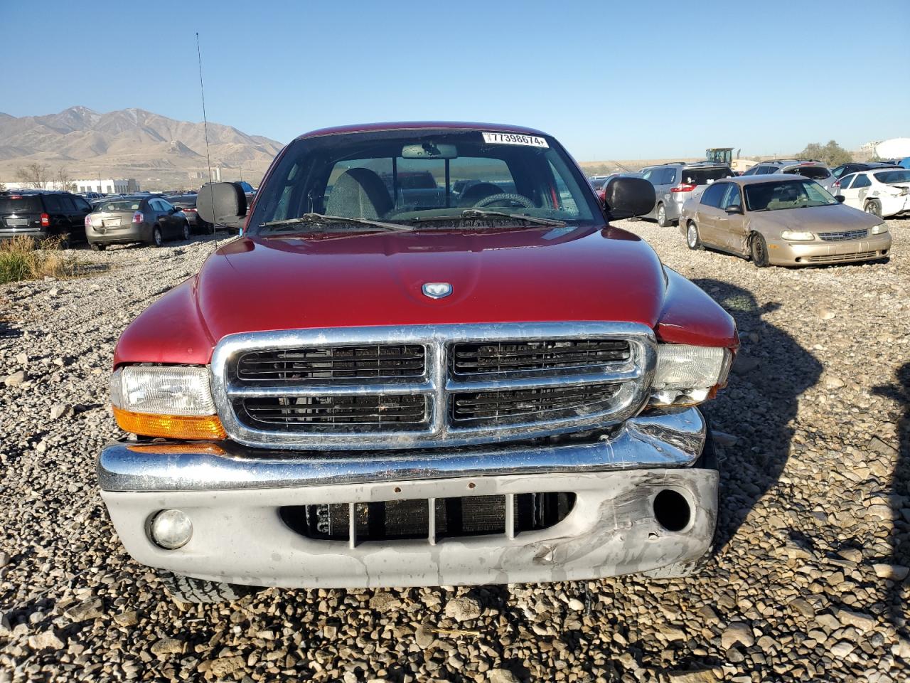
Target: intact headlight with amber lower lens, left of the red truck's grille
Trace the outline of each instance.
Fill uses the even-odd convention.
[[[111,375],[111,403],[125,432],[223,439],[207,368],[128,366]]]

